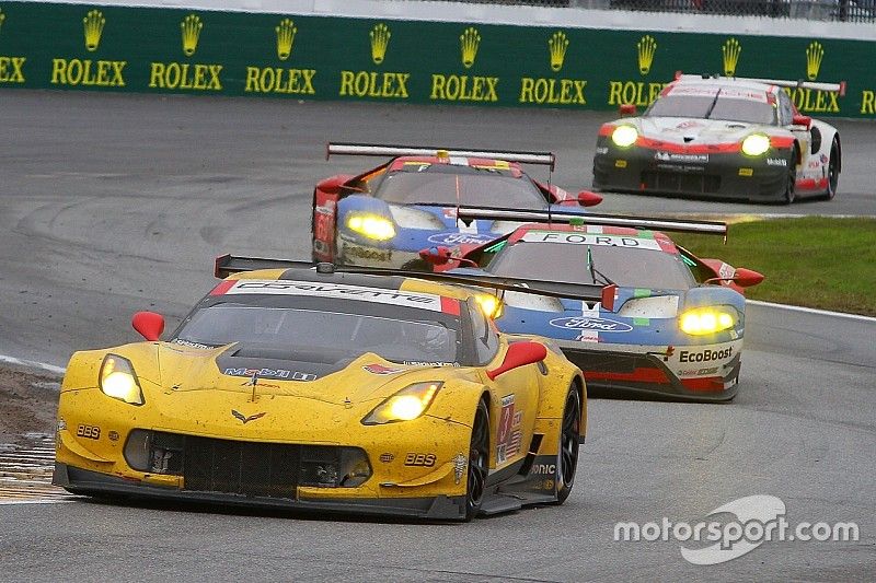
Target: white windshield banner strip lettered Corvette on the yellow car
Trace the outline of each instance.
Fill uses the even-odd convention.
[[[441,296],[431,293],[411,293],[400,290],[347,285],[345,283],[322,283],[319,281],[291,280],[231,280],[233,284],[224,290],[224,294],[270,294],[270,295],[307,295],[356,300],[378,304],[417,307],[433,312],[441,312]]]

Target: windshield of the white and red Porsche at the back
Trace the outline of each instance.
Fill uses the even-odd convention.
[[[714,107],[712,104],[714,103]],[[710,108],[712,109],[710,112]],[[744,124],[775,124],[775,108],[766,102],[718,95],[667,95],[652,104],[647,117],[721,119]]]

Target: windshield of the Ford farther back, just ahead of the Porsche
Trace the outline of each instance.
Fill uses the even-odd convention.
[[[504,170],[451,164],[424,164],[391,172],[374,196],[401,205],[452,207],[460,203],[527,210],[548,207],[541,191],[527,176],[514,176]]]

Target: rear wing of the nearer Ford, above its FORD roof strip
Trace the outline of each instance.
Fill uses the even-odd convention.
[[[460,207],[457,218],[463,221],[484,219],[493,221],[517,221],[521,223],[593,224],[609,226],[630,226],[632,229],[656,229],[678,233],[701,233],[723,235],[727,238],[727,223],[721,221],[694,221],[682,219],[655,219],[649,217],[626,217],[622,214],[575,214],[563,211],[502,210],[474,207]]]

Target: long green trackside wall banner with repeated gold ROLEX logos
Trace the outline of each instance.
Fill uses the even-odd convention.
[[[871,42],[87,7],[0,0],[0,88],[616,109],[677,71],[845,81],[789,90],[876,116]]]

